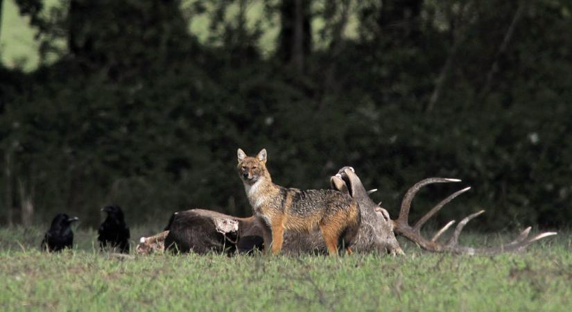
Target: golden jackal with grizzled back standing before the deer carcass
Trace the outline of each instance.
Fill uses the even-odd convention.
[[[351,253],[361,215],[357,202],[348,194],[331,189],[286,189],[272,183],[266,169],[266,149],[256,157],[238,151],[239,175],[246,196],[263,228],[264,248],[282,249],[284,229],[312,232],[320,229],[330,255],[338,254],[338,243]]]

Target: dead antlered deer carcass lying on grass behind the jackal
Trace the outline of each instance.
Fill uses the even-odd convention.
[[[555,232],[545,232],[529,238],[530,227],[528,227],[521,232],[517,239],[506,245],[494,248],[471,248],[458,245],[458,237],[463,227],[469,220],[483,213],[483,211],[478,211],[467,216],[457,225],[451,239],[447,243],[440,243],[438,241],[440,236],[455,221],[447,223],[432,239],[425,239],[420,234],[422,225],[444,205],[461,193],[468,191],[469,188],[457,191],[439,202],[427,214],[422,216],[413,227],[408,224],[410,205],[415,194],[422,187],[433,183],[460,182],[460,180],[431,177],[417,182],[405,194],[401,202],[399,217],[395,220],[390,219],[388,211],[373,202],[369,196],[370,192],[366,191],[354,168],[341,168],[336,175],[331,177],[330,182],[333,189],[349,193],[360,207],[361,225],[353,246],[354,252],[404,254],[397,239],[395,239],[395,234],[398,234],[431,252],[497,254],[521,250],[539,239],[556,234]],[[262,230],[257,222],[254,217],[237,218],[216,211],[191,209],[176,213],[170,220],[168,233],[161,237],[164,237],[164,246],[167,249],[179,250],[180,252],[189,252],[191,250],[200,254],[209,251],[226,252],[227,254],[251,252],[252,250],[263,250]],[[319,231],[309,234],[286,231],[284,233],[282,250],[286,254],[327,253]]]

